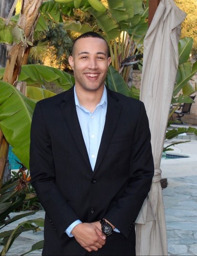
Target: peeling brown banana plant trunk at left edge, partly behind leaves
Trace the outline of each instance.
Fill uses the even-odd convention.
[[[3,0],[2,2],[4,2],[5,7],[6,2],[9,2],[9,0]],[[33,41],[33,32],[39,19],[39,7],[42,2],[43,0],[23,0],[22,2],[22,9],[17,24],[25,32],[27,41]],[[13,46],[7,54],[8,60],[3,76],[4,82],[8,82],[11,85],[16,85],[18,76],[20,74],[23,56],[27,48],[28,44],[25,38],[24,42],[19,44],[13,43]],[[2,182],[2,177],[5,170],[8,149],[9,144],[0,131],[0,184]]]

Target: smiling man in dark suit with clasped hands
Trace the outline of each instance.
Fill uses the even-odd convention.
[[[154,173],[142,102],[110,91],[108,45],[79,36],[75,86],[39,101],[30,173],[45,211],[43,255],[135,255],[135,220]]]

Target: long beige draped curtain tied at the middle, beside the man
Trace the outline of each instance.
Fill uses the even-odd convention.
[[[167,255],[160,162],[176,81],[180,24],[185,17],[173,0],[161,0],[144,40],[140,100],[149,119],[155,174],[136,220],[137,255]]]

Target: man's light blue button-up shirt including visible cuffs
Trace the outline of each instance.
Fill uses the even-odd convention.
[[[74,96],[75,96],[75,105],[76,105],[77,115],[79,119],[79,124],[83,134],[83,139],[86,144],[86,149],[88,152],[92,171],[94,171],[94,167],[95,167],[95,163],[96,163],[97,155],[99,151],[100,141],[101,141],[104,125],[105,125],[105,117],[107,113],[107,104],[108,104],[107,90],[106,90],[106,87],[104,86],[101,100],[92,113],[88,109],[80,105],[75,88],[74,88]],[[69,237],[73,236],[71,234],[71,231],[79,223],[81,223],[81,221],[76,220],[71,225],[69,225],[69,227],[66,229],[66,234],[69,235]],[[118,232],[117,229],[115,231]]]

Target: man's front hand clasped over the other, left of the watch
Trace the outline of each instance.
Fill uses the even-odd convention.
[[[88,252],[98,251],[106,242],[106,236],[95,224],[80,223],[72,230],[72,235]]]

